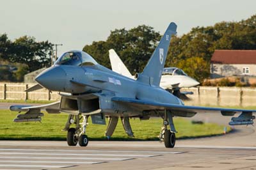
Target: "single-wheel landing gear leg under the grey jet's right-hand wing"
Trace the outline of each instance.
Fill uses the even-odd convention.
[[[170,130],[168,130],[168,124],[170,124]],[[171,112],[164,111],[164,118],[163,118],[163,127],[161,129],[159,139],[160,142],[164,142],[164,146],[166,148],[173,148],[175,146],[175,127],[173,124],[173,115]]]

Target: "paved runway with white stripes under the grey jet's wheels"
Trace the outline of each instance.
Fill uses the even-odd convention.
[[[7,105],[12,104],[0,109]],[[193,119],[223,125],[230,121],[216,114]],[[86,148],[65,141],[0,141],[0,169],[256,170],[255,130],[242,126],[221,136],[177,140],[175,148],[158,141],[90,141]]]

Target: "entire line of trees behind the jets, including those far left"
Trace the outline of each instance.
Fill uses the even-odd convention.
[[[178,30],[179,31],[179,27]],[[100,65],[111,68],[109,49],[114,49],[134,74],[142,72],[154,52],[161,35],[153,27],[141,25],[132,29],[115,29],[106,41],[85,45],[83,50]],[[256,49],[256,15],[239,22],[218,22],[214,26],[194,27],[182,36],[173,36],[165,66],[182,68],[189,76],[202,82],[210,75],[210,61],[215,49]],[[71,50],[71,49],[70,49]],[[0,35],[0,59],[18,66],[15,78],[2,73],[0,81],[22,81],[23,75],[51,65],[52,43],[36,42],[22,36],[14,41]],[[1,70],[2,69],[2,70]]]

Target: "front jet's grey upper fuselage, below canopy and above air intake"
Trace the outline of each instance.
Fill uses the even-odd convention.
[[[76,95],[108,91],[109,93],[115,93],[115,96],[180,104],[180,100],[177,100],[177,97],[174,97],[163,88],[136,82],[134,79],[115,73],[101,65],[52,66],[38,75],[36,81],[52,91]],[[72,83],[72,81],[77,82],[77,84]],[[79,85],[78,82],[84,84],[84,86]]]

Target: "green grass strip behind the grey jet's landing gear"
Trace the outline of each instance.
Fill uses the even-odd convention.
[[[14,123],[12,120],[17,112],[0,110],[0,140],[65,140],[67,132],[62,132],[67,121],[68,114],[47,114],[42,118],[42,123]],[[108,121],[108,120],[107,120]],[[108,122],[107,122],[108,123]],[[127,137],[118,121],[118,126],[111,137],[111,140],[158,140],[157,136],[162,127],[161,118],[152,118],[150,120],[140,121],[131,119],[131,126],[135,137]],[[203,125],[192,124],[189,120],[182,118],[174,119],[175,127],[179,133],[178,138],[200,137],[209,135],[219,135],[223,133],[224,126],[214,123],[205,123]],[[106,140],[104,132],[107,125],[93,125],[89,119],[86,134],[91,140]],[[230,128],[228,127],[228,131]]]

